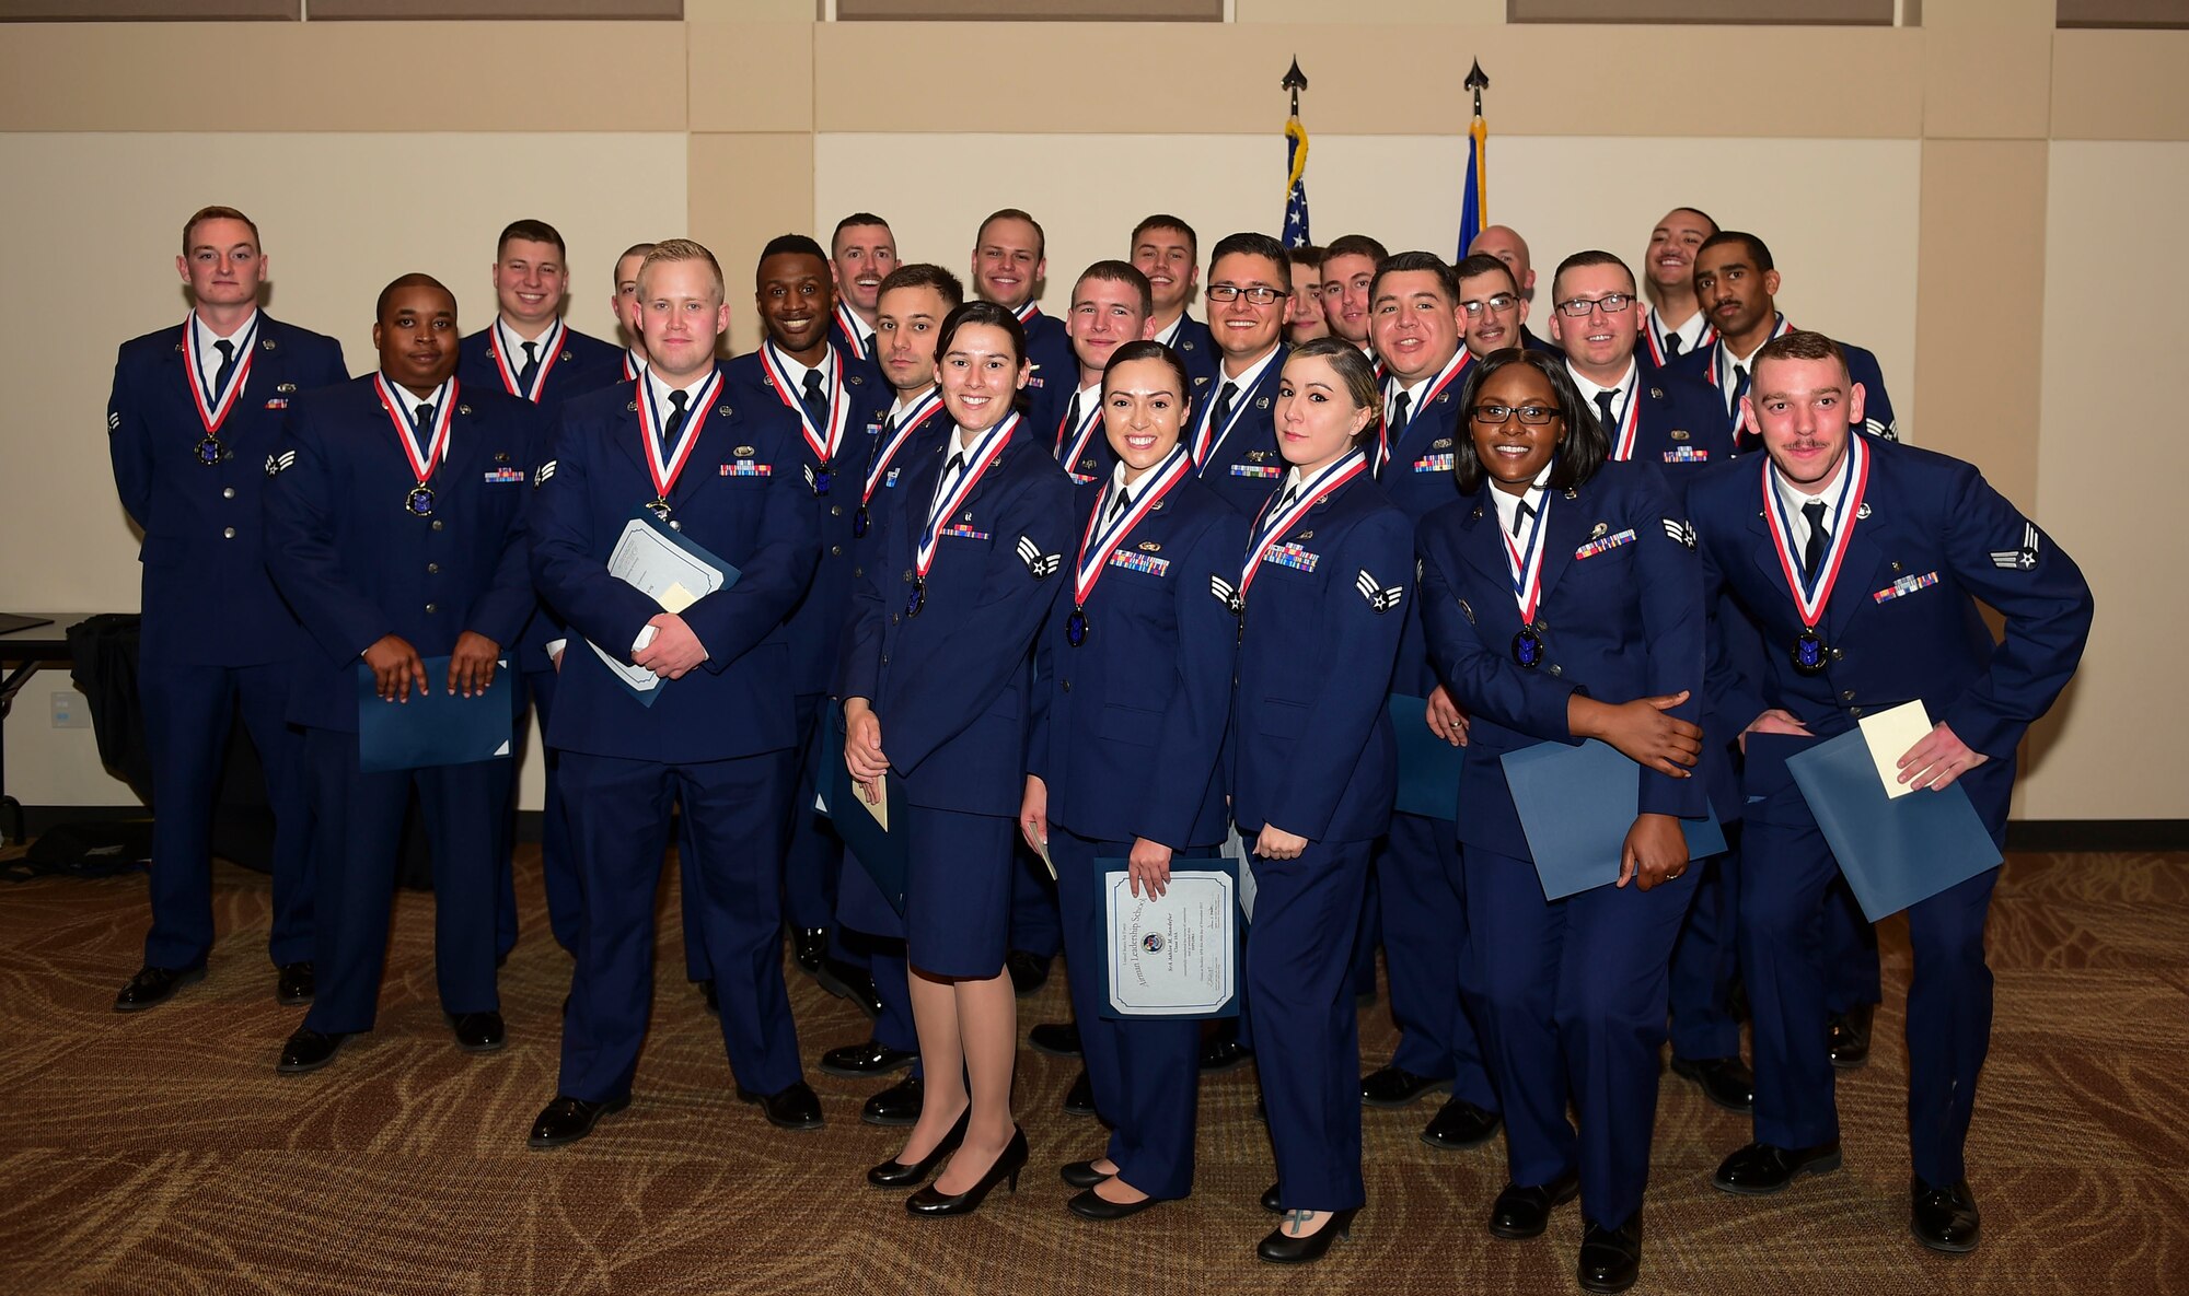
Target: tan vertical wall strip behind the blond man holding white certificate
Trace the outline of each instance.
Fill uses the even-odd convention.
[[[814,228],[814,136],[692,136],[690,166],[692,236],[722,263],[733,306],[729,350],[753,350],[760,346],[753,309],[760,250],[777,234],[812,234],[827,245],[836,225],[830,217]]]

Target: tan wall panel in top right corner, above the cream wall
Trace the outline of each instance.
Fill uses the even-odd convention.
[[[2053,33],[2055,140],[2189,140],[2189,31]]]

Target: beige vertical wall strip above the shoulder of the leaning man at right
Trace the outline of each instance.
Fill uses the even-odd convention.
[[[2023,510],[2038,506],[2038,370],[1999,357],[2036,355],[2042,344],[2049,309],[2031,291],[2042,282],[2045,144],[1926,140],[1915,278],[1915,392],[1931,409],[1922,442],[1983,464]],[[1988,324],[1974,331],[1970,320]]]

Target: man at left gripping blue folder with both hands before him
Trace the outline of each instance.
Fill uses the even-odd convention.
[[[510,762],[374,773],[359,714],[436,690],[497,707],[510,738],[510,683],[495,683],[534,611],[523,514],[538,423],[525,401],[455,379],[455,298],[429,276],[381,291],[372,342],[379,372],[289,409],[265,501],[267,571],[311,637],[289,720],[304,727],[320,856],[320,994],[282,1049],[285,1073],[326,1066],[372,1029],[412,788],[433,854],[440,1005],[462,1049],[506,1040],[493,825]],[[444,674],[425,657],[449,657]],[[361,701],[359,672],[377,701]]]

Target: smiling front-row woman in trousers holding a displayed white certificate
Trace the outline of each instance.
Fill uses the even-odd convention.
[[[1127,860],[1134,895],[1162,895],[1171,860],[1226,836],[1224,725],[1230,606],[1211,580],[1239,574],[1246,519],[1193,473],[1180,440],[1193,383],[1160,342],[1103,366],[1116,468],[1079,488],[1064,598],[1035,648],[1033,744],[1018,821],[1057,865],[1064,954],[1094,1110],[1112,1125],[1094,1160],[1059,1173],[1084,1219],[1123,1219],[1193,1189],[1200,1020],[1108,1018],[1108,922],[1097,860]],[[1191,865],[1182,865],[1191,867]]]

